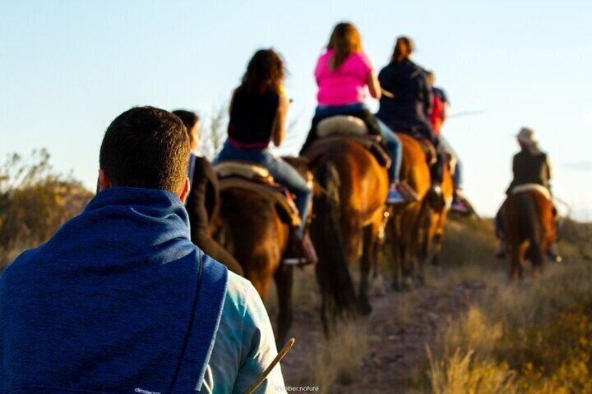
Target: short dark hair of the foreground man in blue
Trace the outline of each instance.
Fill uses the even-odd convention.
[[[183,122],[164,109],[135,107],[111,122],[99,158],[115,186],[181,192],[189,164]]]

